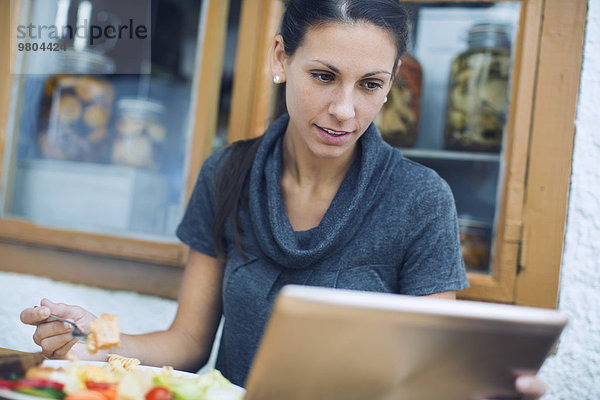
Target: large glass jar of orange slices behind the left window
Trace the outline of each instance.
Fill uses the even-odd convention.
[[[104,78],[111,60],[90,51],[61,55],[60,73],[44,85],[38,148],[42,157],[105,162],[114,89]]]

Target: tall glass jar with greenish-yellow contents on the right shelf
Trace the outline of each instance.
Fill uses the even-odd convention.
[[[508,112],[510,40],[506,25],[476,24],[468,49],[452,62],[445,145],[497,152]]]

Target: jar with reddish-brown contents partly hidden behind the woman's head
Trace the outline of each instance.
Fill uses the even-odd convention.
[[[423,69],[409,53],[401,61],[400,73],[376,122],[381,136],[390,145],[411,147],[417,140]]]

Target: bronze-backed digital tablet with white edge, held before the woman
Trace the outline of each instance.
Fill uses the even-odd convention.
[[[517,398],[567,323],[556,310],[307,286],[279,293],[245,400]]]

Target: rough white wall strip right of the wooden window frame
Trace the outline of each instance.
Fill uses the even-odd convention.
[[[541,375],[544,399],[600,399],[600,0],[590,0],[559,309],[569,315]]]

